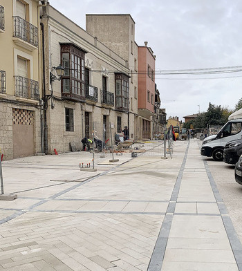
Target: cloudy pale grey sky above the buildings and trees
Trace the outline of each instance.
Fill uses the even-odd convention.
[[[86,14],[130,14],[136,43],[156,55],[156,71],[242,65],[240,0],[49,0],[86,28]],[[230,77],[211,79],[214,77]],[[196,78],[193,80],[193,78]],[[210,79],[206,79],[210,78]],[[208,104],[234,109],[242,97],[242,72],[156,75],[162,108],[179,117],[207,111]]]

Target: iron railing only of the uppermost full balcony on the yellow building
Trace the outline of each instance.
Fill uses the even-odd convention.
[[[19,16],[13,17],[13,36],[38,47],[38,28]]]

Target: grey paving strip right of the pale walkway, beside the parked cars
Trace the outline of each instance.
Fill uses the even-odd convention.
[[[221,213],[221,218],[223,220],[223,225],[225,227],[225,230],[227,232],[227,237],[230,241],[230,245],[232,247],[232,252],[234,253],[234,258],[236,260],[236,263],[238,265],[239,271],[242,271],[242,245],[239,241],[239,237],[236,234],[236,230],[234,230],[234,225],[230,219],[230,216],[228,216],[227,209],[225,207],[225,204],[223,203],[223,199],[221,198],[218,188],[216,187],[216,183],[214,181],[214,178],[212,177],[211,171],[209,166],[207,165],[207,161],[203,161],[205,165],[205,169],[207,172],[207,176],[210,180],[210,185],[212,187],[212,191],[214,192],[214,197],[216,198],[219,212]]]

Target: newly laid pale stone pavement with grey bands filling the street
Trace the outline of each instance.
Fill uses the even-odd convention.
[[[62,153],[3,162],[0,270],[242,271],[242,247],[200,140],[149,151]]]

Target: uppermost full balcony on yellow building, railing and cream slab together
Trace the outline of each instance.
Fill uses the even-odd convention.
[[[38,28],[19,16],[13,17],[13,37],[22,48],[30,51],[38,48]]]

